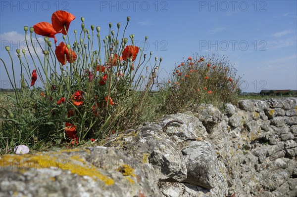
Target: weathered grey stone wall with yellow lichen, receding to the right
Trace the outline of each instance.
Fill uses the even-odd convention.
[[[105,147],[0,157],[0,196],[296,197],[297,98],[167,115]]]

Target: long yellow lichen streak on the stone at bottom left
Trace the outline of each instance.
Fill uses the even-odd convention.
[[[74,157],[74,156],[73,156]],[[74,157],[76,158],[76,157]],[[99,170],[92,164],[79,165],[74,163],[74,158],[57,158],[52,155],[5,155],[0,158],[0,167],[14,166],[19,170],[28,168],[34,169],[47,169],[47,168],[59,168],[62,170],[69,170],[73,174],[80,176],[89,176],[94,180],[99,179],[106,185],[114,184],[114,180],[101,174]],[[65,162],[60,162],[60,160]],[[83,160],[83,159],[81,159]]]

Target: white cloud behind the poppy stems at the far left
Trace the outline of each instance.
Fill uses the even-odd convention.
[[[38,42],[40,45],[44,48],[45,47],[45,41],[42,37],[38,37]],[[11,31],[11,32],[4,32],[3,34],[0,34],[0,47],[1,51],[5,50],[5,46],[10,47],[10,51],[14,51],[14,54],[16,55],[15,50],[16,49],[25,49],[26,53],[28,53],[28,48],[25,40],[25,35],[24,34],[19,34],[16,31]],[[35,38],[32,38],[32,43],[30,40],[30,33],[27,34],[27,42],[28,42],[28,47],[32,55],[36,56],[34,52],[34,48],[36,50],[36,53],[38,56],[42,56],[42,49],[40,48],[37,40]],[[34,48],[33,48],[34,46]]]

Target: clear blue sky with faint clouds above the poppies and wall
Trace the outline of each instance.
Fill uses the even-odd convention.
[[[0,57],[6,62],[5,45],[13,51],[25,46],[24,25],[50,22],[52,12],[61,9],[76,16],[70,34],[74,29],[80,30],[82,16],[88,29],[92,24],[100,26],[104,37],[109,22],[114,30],[120,22],[123,30],[126,17],[130,16],[125,37],[133,33],[140,44],[148,36],[146,53],[152,51],[153,56],[163,57],[161,78],[167,79],[183,57],[196,52],[215,53],[227,56],[235,64],[237,74],[242,76],[243,91],[297,89],[296,0],[1,0],[0,3]],[[61,35],[57,39],[61,41]],[[17,58],[15,63],[19,66]],[[19,78],[20,72],[16,73]],[[8,88],[2,63],[0,81],[2,88]]]

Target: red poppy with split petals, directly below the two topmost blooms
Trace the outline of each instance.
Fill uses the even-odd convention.
[[[68,49],[66,44],[64,42],[61,42],[58,46],[56,46],[56,49],[54,53],[57,56],[58,61],[62,64],[66,64],[66,60],[69,63],[73,63],[76,60],[76,54],[72,49]],[[65,59],[66,55],[66,59]]]

